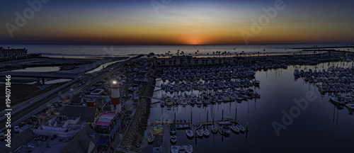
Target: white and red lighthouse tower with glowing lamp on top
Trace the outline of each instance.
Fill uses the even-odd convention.
[[[116,76],[110,79],[110,111],[114,113],[120,113],[120,82]]]

